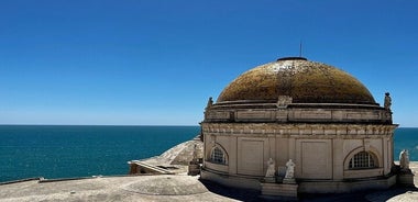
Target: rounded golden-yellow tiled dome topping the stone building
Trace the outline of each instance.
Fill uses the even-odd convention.
[[[367,88],[350,74],[302,57],[280,58],[255,67],[233,80],[217,103],[276,102],[376,104]]]

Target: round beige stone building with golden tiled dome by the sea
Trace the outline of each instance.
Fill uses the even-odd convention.
[[[287,57],[255,67],[209,100],[201,178],[262,190],[293,160],[298,192],[349,192],[396,183],[391,103],[336,67]]]

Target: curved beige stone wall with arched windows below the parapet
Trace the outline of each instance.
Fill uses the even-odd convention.
[[[393,135],[396,125],[380,124],[279,124],[279,123],[201,123],[204,133],[202,178],[221,181],[228,176],[249,180],[248,186],[262,179],[267,170],[266,161],[273,158],[277,167],[288,159],[296,164],[298,182],[327,180],[356,181],[386,178],[393,162]],[[226,164],[211,162],[211,148],[226,153]],[[349,168],[350,159],[360,152],[373,154],[373,169]],[[227,180],[227,179],[226,179]],[[227,183],[227,182],[226,182]],[[231,181],[228,184],[232,183]],[[314,183],[308,183],[314,184]],[[329,188],[327,186],[327,188]],[[307,189],[309,192],[309,189]]]

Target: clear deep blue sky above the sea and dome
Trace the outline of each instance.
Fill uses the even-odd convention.
[[[418,126],[418,1],[1,0],[0,124],[197,125],[279,57],[337,66]]]

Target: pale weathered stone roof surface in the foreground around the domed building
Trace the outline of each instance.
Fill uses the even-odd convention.
[[[411,162],[415,173],[418,164]],[[167,179],[170,177],[170,179]],[[418,178],[414,178],[418,184]],[[184,186],[185,184],[185,186]],[[102,177],[38,183],[36,180],[0,186],[1,202],[32,201],[260,201],[260,192],[204,183],[198,177]],[[416,188],[330,195],[299,195],[302,201],[418,201]]]

